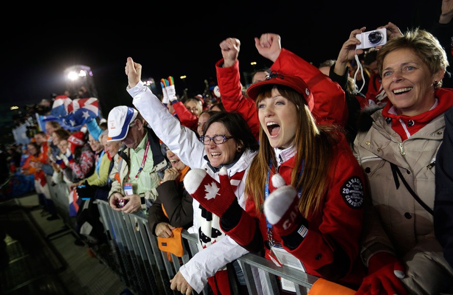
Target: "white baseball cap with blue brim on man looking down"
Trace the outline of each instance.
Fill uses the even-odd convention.
[[[107,141],[123,140],[128,135],[129,124],[137,117],[137,110],[125,105],[114,107],[107,119],[109,138]]]

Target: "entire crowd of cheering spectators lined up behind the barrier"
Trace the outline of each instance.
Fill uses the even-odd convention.
[[[318,66],[264,33],[255,47],[272,66],[248,87],[241,41],[226,38],[217,85],[193,97],[171,76],[153,93],[146,61],[129,57],[131,104],[107,118],[87,93],[40,102],[37,112],[58,120],[41,130],[29,116],[30,143],[1,150],[2,196],[34,190],[54,220],[49,186],[65,183],[90,244],[105,241],[95,199],[145,216],[162,245],[182,229],[197,234],[200,251],[170,280],[182,294],[207,284],[231,294],[231,274],[248,294],[236,262],[245,253],[280,266],[291,256],[338,294],[451,294],[452,2],[430,32],[356,28]],[[271,293],[254,277],[258,294]],[[280,279],[281,294],[294,294]]]

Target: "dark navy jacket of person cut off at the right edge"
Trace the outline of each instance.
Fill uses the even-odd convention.
[[[436,155],[434,233],[453,267],[453,108],[445,112],[445,130]]]

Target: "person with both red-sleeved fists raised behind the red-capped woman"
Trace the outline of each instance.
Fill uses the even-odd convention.
[[[260,45],[260,39],[265,39]],[[256,138],[259,138],[259,119],[255,102],[244,96],[239,75],[239,50],[241,42],[236,38],[226,38],[220,43],[223,58],[216,63],[217,81],[219,82],[222,103],[229,112],[239,112],[250,126]],[[313,115],[319,123],[335,123],[342,127],[347,120],[347,109],[344,91],[338,83],[324,77],[315,66],[295,55],[288,49],[283,49],[280,36],[265,33],[255,38],[255,47],[263,57],[274,64],[271,70],[300,76],[309,81],[314,97]],[[258,72],[252,82],[264,79],[265,72]]]

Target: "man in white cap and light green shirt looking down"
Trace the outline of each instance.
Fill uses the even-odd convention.
[[[125,213],[147,212],[167,162],[159,138],[134,108],[114,107],[108,116],[108,141],[122,141],[110,173],[109,204]],[[161,176],[162,175],[162,176]]]

